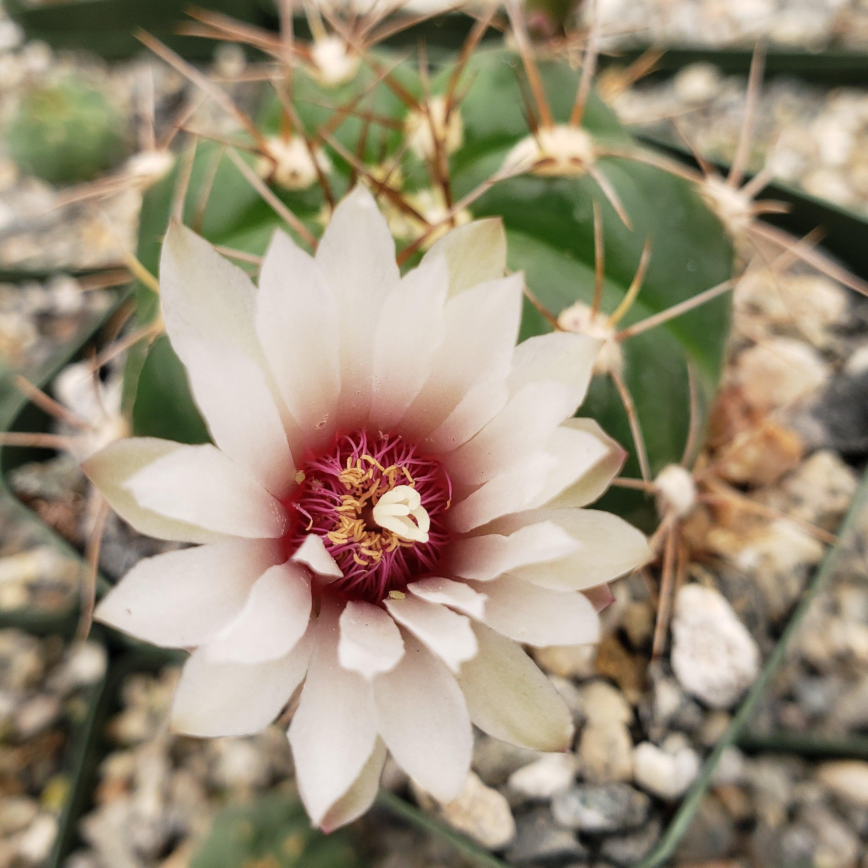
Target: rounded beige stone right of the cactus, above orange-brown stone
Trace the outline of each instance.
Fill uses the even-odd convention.
[[[736,361],[736,377],[745,398],[759,411],[789,407],[807,398],[830,375],[819,352],[792,338],[772,338],[754,345]]]

